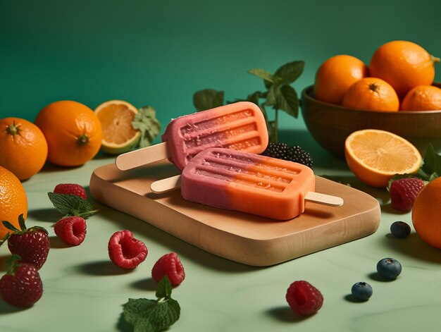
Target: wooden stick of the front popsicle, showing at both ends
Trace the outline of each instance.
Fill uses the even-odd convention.
[[[171,190],[180,188],[181,176],[172,176],[171,178],[164,178],[162,180],[154,181],[151,183],[151,191],[156,194],[163,192],[169,192]],[[343,199],[341,197],[325,195],[320,192],[306,192],[306,202],[318,203],[328,205],[330,207],[341,207],[343,205]]]

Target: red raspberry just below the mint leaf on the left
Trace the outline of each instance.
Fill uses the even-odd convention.
[[[80,216],[68,216],[58,220],[54,230],[67,245],[80,245],[86,237],[86,221]]]

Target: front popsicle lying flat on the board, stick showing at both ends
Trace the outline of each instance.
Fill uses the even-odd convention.
[[[151,184],[154,192],[181,188],[191,202],[288,220],[302,214],[305,202],[340,206],[343,199],[315,190],[311,168],[292,161],[223,148],[194,156],[181,176]]]

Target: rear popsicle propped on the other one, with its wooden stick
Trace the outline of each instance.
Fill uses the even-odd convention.
[[[268,131],[259,106],[237,102],[175,118],[168,123],[161,140],[158,145],[120,154],[116,167],[127,171],[169,159],[182,170],[194,156],[210,147],[259,154],[268,145]]]

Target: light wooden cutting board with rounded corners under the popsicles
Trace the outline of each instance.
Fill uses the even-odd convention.
[[[316,176],[316,192],[344,199],[342,207],[307,202],[304,214],[275,221],[187,202],[180,190],[151,192],[153,181],[178,175],[168,161],[119,171],[94,170],[90,192],[97,201],[147,221],[177,238],[226,259],[269,266],[370,235],[380,225],[380,204],[370,195]]]

